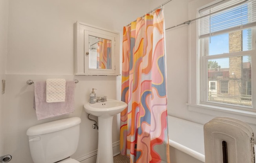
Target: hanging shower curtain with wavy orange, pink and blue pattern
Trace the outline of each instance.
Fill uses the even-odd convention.
[[[163,9],[123,30],[120,150],[130,163],[169,163]]]

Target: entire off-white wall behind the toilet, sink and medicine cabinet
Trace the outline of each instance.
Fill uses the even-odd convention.
[[[4,114],[4,152],[13,156],[13,163],[32,163],[26,136],[29,127],[73,116],[80,117],[82,123],[79,147],[72,157],[82,160],[97,150],[98,132],[92,129],[93,122],[87,119],[83,104],[88,101],[92,88],[97,89],[97,96],[119,98],[121,78],[73,75],[74,23],[78,20],[120,32],[122,42],[123,25],[148,12],[149,4],[146,2],[148,0],[130,0],[129,3],[117,0],[9,0],[7,87],[5,107],[1,107],[1,114]],[[74,113],[37,120],[33,110],[34,86],[27,85],[26,81],[31,79],[36,82],[47,78],[79,80],[75,89]],[[119,141],[118,121],[118,116],[115,116],[113,143]]]

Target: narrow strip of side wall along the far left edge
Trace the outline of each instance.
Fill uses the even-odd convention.
[[[7,54],[7,27],[8,27],[8,0],[0,0],[0,89],[2,92],[2,80],[5,79],[5,61]],[[4,153],[3,139],[3,109],[5,104],[5,94],[0,93],[0,156]]]

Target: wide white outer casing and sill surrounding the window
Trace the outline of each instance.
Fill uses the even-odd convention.
[[[199,10],[206,8],[210,5],[214,5],[221,0],[198,0],[189,3],[189,17],[192,20],[199,17]],[[256,118],[256,108],[252,107],[239,107],[237,105],[225,105],[219,103],[207,103],[203,102],[203,81],[201,69],[203,64],[203,57],[200,55],[199,51],[202,49],[203,45],[199,42],[199,31],[197,26],[199,25],[199,20],[192,21],[188,26],[188,111],[198,112],[201,114],[208,114],[210,116],[234,116],[240,117],[241,119]],[[195,32],[196,31],[196,32]],[[252,38],[252,46],[255,46],[256,40]],[[254,48],[255,49],[255,48]],[[253,63],[256,63],[256,55],[252,55],[251,58]],[[256,65],[252,65],[252,71],[256,72]],[[252,74],[252,80],[256,81],[256,74]],[[207,89],[206,89],[207,90]],[[256,83],[252,83],[252,92],[256,93]],[[256,105],[256,96],[252,96],[252,101]],[[254,123],[256,125],[256,123]]]

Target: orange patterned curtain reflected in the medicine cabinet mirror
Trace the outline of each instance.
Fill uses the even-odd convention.
[[[111,69],[111,40],[97,43],[97,69]]]

